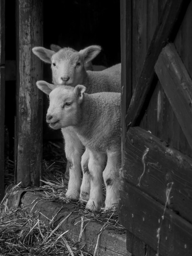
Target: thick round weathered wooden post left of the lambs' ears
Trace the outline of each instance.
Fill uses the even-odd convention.
[[[42,61],[31,49],[42,46],[42,0],[16,0],[16,183],[40,185],[42,169]]]

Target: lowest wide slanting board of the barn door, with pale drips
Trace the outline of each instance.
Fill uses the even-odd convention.
[[[190,256],[192,225],[140,189],[123,181],[120,221],[163,256]]]

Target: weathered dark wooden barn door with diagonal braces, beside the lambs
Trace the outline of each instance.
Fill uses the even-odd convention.
[[[135,256],[192,255],[192,2],[121,0],[119,218]]]

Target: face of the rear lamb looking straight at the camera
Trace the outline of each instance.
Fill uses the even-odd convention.
[[[53,83],[59,85],[76,85],[83,82],[84,63],[79,52],[63,48],[51,57]]]

